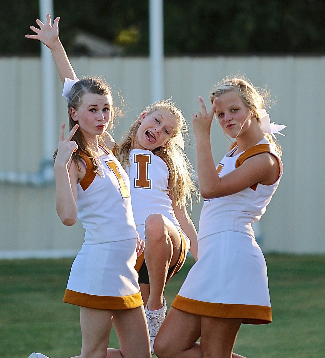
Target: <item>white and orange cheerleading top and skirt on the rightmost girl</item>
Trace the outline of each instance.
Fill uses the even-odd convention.
[[[236,169],[259,153],[271,153],[280,165],[272,185],[255,184],[241,192],[205,200],[198,232],[198,261],[186,277],[172,307],[202,316],[242,318],[243,323],[272,321],[267,270],[252,223],[270,203],[282,176],[275,146],[266,139],[233,155],[237,146],[217,166],[219,176]]]

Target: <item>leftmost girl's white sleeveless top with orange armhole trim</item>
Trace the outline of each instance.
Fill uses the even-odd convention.
[[[86,175],[77,184],[78,219],[86,230],[85,244],[101,244],[137,237],[131,207],[130,181],[113,153],[98,157],[100,175],[84,155]]]

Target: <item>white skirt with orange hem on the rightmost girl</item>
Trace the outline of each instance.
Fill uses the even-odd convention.
[[[253,236],[225,231],[198,241],[198,261],[172,307],[243,323],[272,321],[267,269]]]

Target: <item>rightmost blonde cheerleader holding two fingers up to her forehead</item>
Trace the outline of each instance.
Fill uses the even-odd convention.
[[[282,176],[281,150],[271,134],[265,97],[247,80],[226,79],[207,111],[192,116],[200,193],[205,199],[193,265],[155,340],[159,358],[238,358],[242,323],[272,321],[266,263],[252,223],[266,210]],[[214,115],[236,141],[215,167],[210,145]],[[201,343],[197,340],[201,337]]]

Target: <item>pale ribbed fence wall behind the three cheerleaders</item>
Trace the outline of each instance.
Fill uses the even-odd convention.
[[[101,76],[122,94],[127,107],[114,131],[115,140],[150,103],[147,58],[72,58],[79,77]],[[270,89],[276,101],[271,121],[285,124],[285,171],[258,227],[265,252],[325,253],[325,57],[205,57],[166,58],[165,97],[173,100],[190,124],[198,110],[198,96],[208,103],[215,82],[244,74],[255,86]],[[39,58],[0,58],[0,174],[37,173],[42,153],[42,98]],[[57,132],[67,122],[66,100],[57,76]],[[191,125],[191,124],[190,124]],[[217,123],[212,130],[215,162],[228,148]],[[53,148],[54,150],[55,148]],[[195,140],[190,134],[186,153],[195,165]],[[0,258],[73,256],[83,242],[80,223],[68,228],[55,212],[53,184],[40,187],[0,180]],[[191,217],[198,226],[202,202]]]

